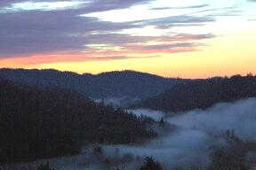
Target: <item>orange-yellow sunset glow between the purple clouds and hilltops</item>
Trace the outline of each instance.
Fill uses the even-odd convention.
[[[226,27],[221,24],[212,27],[220,32],[220,36],[202,40],[209,45],[197,49],[188,47],[174,50],[99,51],[79,55],[40,54],[1,58],[0,67],[53,68],[76,73],[134,70],[180,78],[255,74],[256,23],[244,21],[243,30],[237,26],[241,23],[236,23],[236,20]]]

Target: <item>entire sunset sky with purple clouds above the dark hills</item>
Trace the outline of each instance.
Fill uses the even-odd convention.
[[[0,67],[256,73],[256,0],[1,0]]]

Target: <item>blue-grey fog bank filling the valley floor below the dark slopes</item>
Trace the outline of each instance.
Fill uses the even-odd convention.
[[[57,170],[136,170],[140,169],[144,157],[152,156],[165,169],[204,169],[211,162],[210,155],[216,146],[228,146],[224,138],[227,130],[233,129],[243,140],[256,141],[256,98],[216,104],[207,110],[182,112],[176,116],[145,109],[132,112],[155,120],[164,117],[164,121],[175,128],[144,144],[102,145],[100,151],[93,150],[95,146],[86,147],[79,156],[52,159],[51,165]]]

